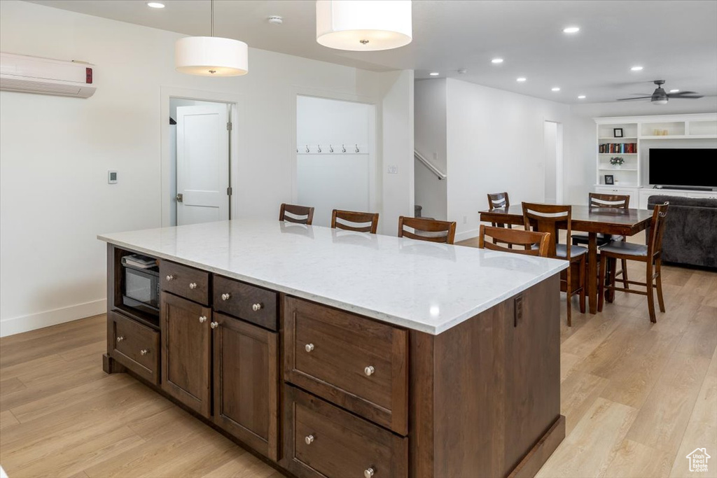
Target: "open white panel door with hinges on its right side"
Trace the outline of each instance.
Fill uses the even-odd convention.
[[[177,107],[177,225],[229,219],[227,105]]]

